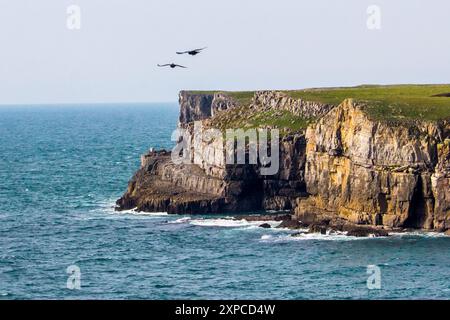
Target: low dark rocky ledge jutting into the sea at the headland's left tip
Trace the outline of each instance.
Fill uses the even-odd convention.
[[[241,176],[239,167],[230,174],[216,178],[195,164],[174,164],[171,153],[149,152],[142,157],[141,168],[117,201],[117,210],[136,209],[171,214],[205,214],[250,211],[258,208],[261,185],[256,179],[233,179]]]

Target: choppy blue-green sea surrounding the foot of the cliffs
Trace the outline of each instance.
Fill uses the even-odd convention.
[[[177,117],[176,104],[0,107],[0,299],[450,298],[439,234],[293,238],[226,215],[114,212]]]

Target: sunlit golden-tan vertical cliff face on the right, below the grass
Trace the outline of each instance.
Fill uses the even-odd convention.
[[[448,124],[395,126],[372,121],[363,110],[346,100],[308,128],[311,196],[298,200],[297,218],[448,228]]]

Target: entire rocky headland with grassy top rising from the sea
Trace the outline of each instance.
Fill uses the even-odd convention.
[[[176,214],[291,210],[293,220],[324,228],[350,223],[449,229],[450,104],[443,100],[448,98],[429,97],[450,88],[407,87],[415,104],[400,98],[392,103],[393,95],[382,95],[406,90],[401,86],[360,88],[182,91],[179,128],[187,133],[280,129],[279,170],[262,174],[266,164],[260,158],[226,164],[220,138],[183,137],[180,141],[189,142],[189,163],[173,163],[166,151],[144,155],[117,209]],[[374,94],[376,103],[369,100]]]

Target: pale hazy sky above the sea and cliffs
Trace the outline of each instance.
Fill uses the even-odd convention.
[[[381,30],[367,27],[373,4]],[[69,5],[80,30],[66,26]],[[0,104],[450,83],[449,12],[448,0],[0,0]],[[172,61],[189,69],[156,67]]]

